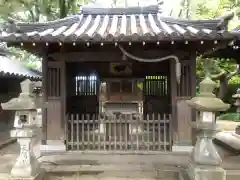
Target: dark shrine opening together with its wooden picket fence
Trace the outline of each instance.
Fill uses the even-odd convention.
[[[131,73],[116,74],[111,72],[113,64],[118,68],[126,65],[116,62],[66,65],[67,149],[170,150],[169,73],[160,69],[139,76],[140,72],[134,69],[146,64],[131,63]],[[168,64],[155,66],[168,68]]]

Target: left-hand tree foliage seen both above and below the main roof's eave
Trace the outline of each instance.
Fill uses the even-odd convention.
[[[80,10],[80,4],[88,0],[0,0],[0,19],[12,17],[21,21],[41,22],[64,18]],[[39,69],[41,59],[16,48],[9,48],[11,58],[18,59],[26,67]]]

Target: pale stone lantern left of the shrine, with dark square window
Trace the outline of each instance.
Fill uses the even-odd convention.
[[[17,178],[34,178],[40,173],[40,164],[32,150],[32,142],[37,135],[35,125],[37,107],[32,93],[33,88],[34,84],[27,79],[21,83],[22,92],[18,98],[1,104],[4,110],[16,111],[14,121],[16,129],[11,131],[11,137],[17,138],[20,155],[11,170],[11,176]]]

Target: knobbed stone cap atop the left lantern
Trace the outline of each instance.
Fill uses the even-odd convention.
[[[34,83],[26,79],[21,83],[21,90],[19,97],[13,98],[6,103],[2,103],[4,110],[36,110],[37,106],[33,95]]]

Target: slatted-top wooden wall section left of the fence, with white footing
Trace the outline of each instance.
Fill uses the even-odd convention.
[[[45,76],[45,145],[43,151],[65,151],[64,145],[64,87],[62,77],[64,76],[65,67],[61,60],[47,61]]]

